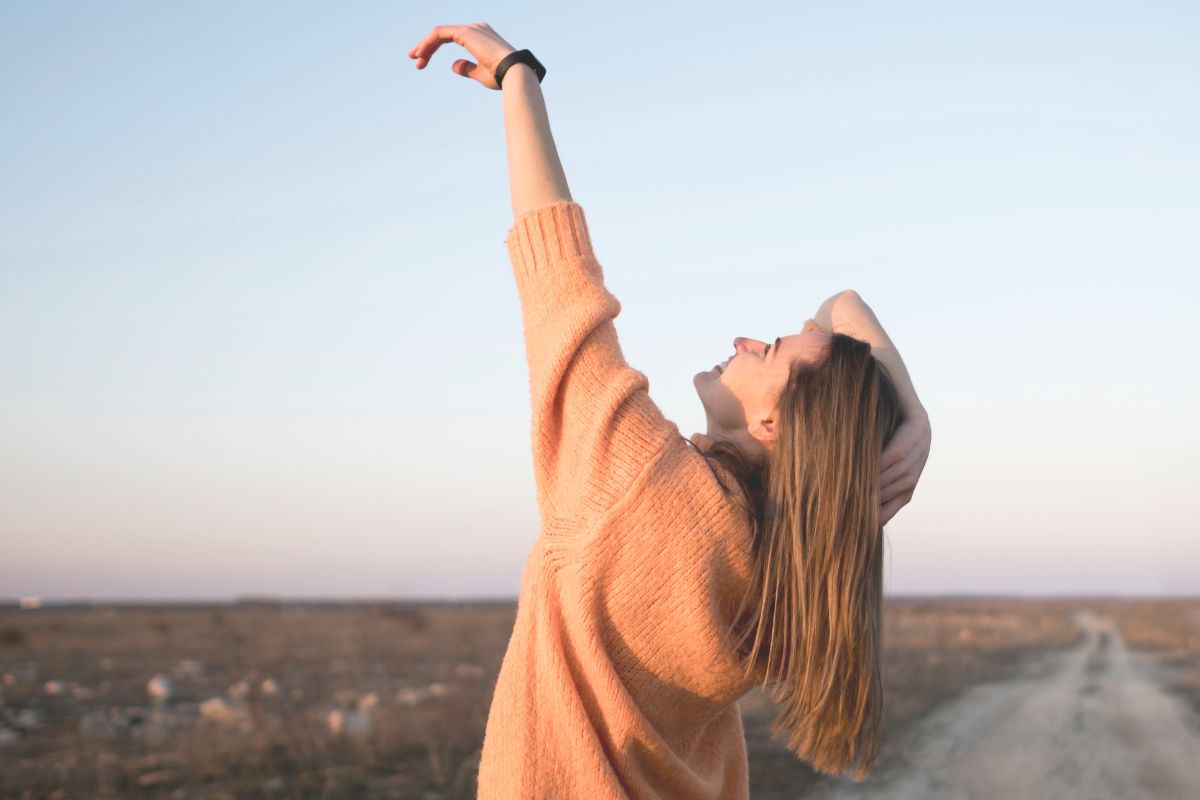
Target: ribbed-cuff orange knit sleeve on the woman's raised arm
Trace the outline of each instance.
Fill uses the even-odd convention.
[[[678,427],[625,362],[583,209],[559,200],[521,215],[512,261],[533,403],[533,467],[542,531],[569,535],[607,511]]]

